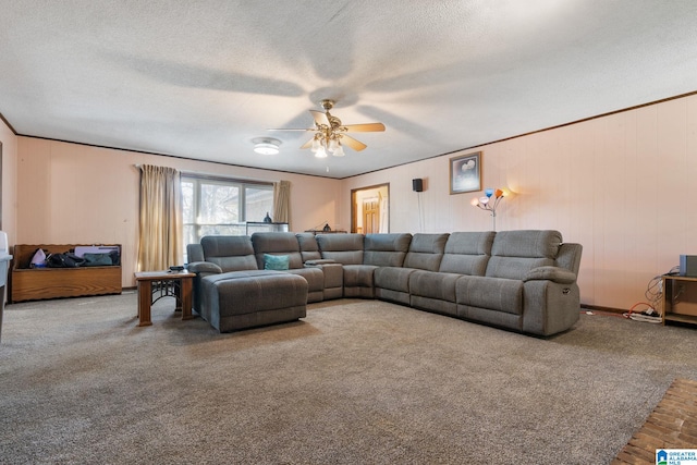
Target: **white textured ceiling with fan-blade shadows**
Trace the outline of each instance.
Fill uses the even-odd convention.
[[[0,0],[17,134],[345,178],[697,90],[694,0]],[[368,148],[301,150],[335,99]],[[260,156],[252,139],[282,140]]]

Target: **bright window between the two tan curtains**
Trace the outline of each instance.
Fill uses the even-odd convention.
[[[273,184],[182,175],[182,209],[185,246],[205,235],[244,235],[246,221],[273,211]]]

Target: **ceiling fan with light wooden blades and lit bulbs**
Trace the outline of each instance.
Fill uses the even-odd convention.
[[[334,100],[322,100],[321,106],[325,109],[323,113],[317,110],[309,110],[315,119],[315,127],[306,130],[278,129],[269,131],[314,131],[315,135],[313,138],[303,144],[301,148],[311,149],[317,158],[327,157],[327,152],[334,157],[343,157],[345,155],[343,146],[351,147],[356,151],[360,151],[367,147],[367,145],[348,136],[346,133],[384,131],[384,124],[382,123],[342,124],[339,118],[329,113],[329,110],[334,107]]]

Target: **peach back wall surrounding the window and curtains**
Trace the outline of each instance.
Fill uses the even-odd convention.
[[[11,244],[122,244],[123,285],[134,286],[139,171],[135,164],[291,182],[291,229],[337,222],[335,180],[17,137],[17,228]]]

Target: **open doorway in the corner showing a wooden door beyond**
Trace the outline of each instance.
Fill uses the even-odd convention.
[[[351,191],[351,232],[390,232],[390,184]]]

